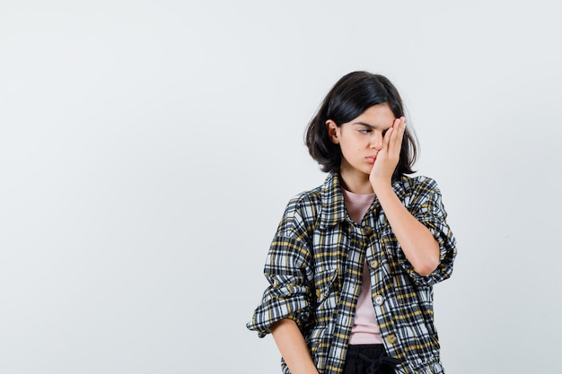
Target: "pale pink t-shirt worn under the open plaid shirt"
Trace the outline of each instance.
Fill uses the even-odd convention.
[[[374,194],[359,195],[342,188],[347,214],[354,222],[361,223],[364,213],[373,203]],[[363,283],[357,300],[356,316],[351,328],[349,344],[382,344],[381,330],[374,316],[371,297],[371,275],[366,262],[363,266]]]

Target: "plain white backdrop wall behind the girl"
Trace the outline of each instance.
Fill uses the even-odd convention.
[[[354,70],[397,85],[443,191],[447,372],[558,372],[554,4],[1,1],[0,372],[279,372],[245,324]]]

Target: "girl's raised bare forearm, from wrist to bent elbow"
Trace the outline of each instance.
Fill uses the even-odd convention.
[[[390,185],[377,187],[375,193],[409,263],[417,274],[431,274],[439,265],[439,243],[431,231],[408,212]]]

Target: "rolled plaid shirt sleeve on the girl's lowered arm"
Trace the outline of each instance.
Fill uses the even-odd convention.
[[[289,318],[303,330],[311,317],[311,252],[306,225],[290,203],[277,234],[271,242],[264,266],[269,286],[264,291],[251,321],[246,325],[259,337],[268,335],[271,326]]]

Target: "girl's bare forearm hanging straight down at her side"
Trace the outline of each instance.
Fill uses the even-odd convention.
[[[291,319],[282,319],[271,327],[277,348],[293,374],[318,374],[303,334]]]

